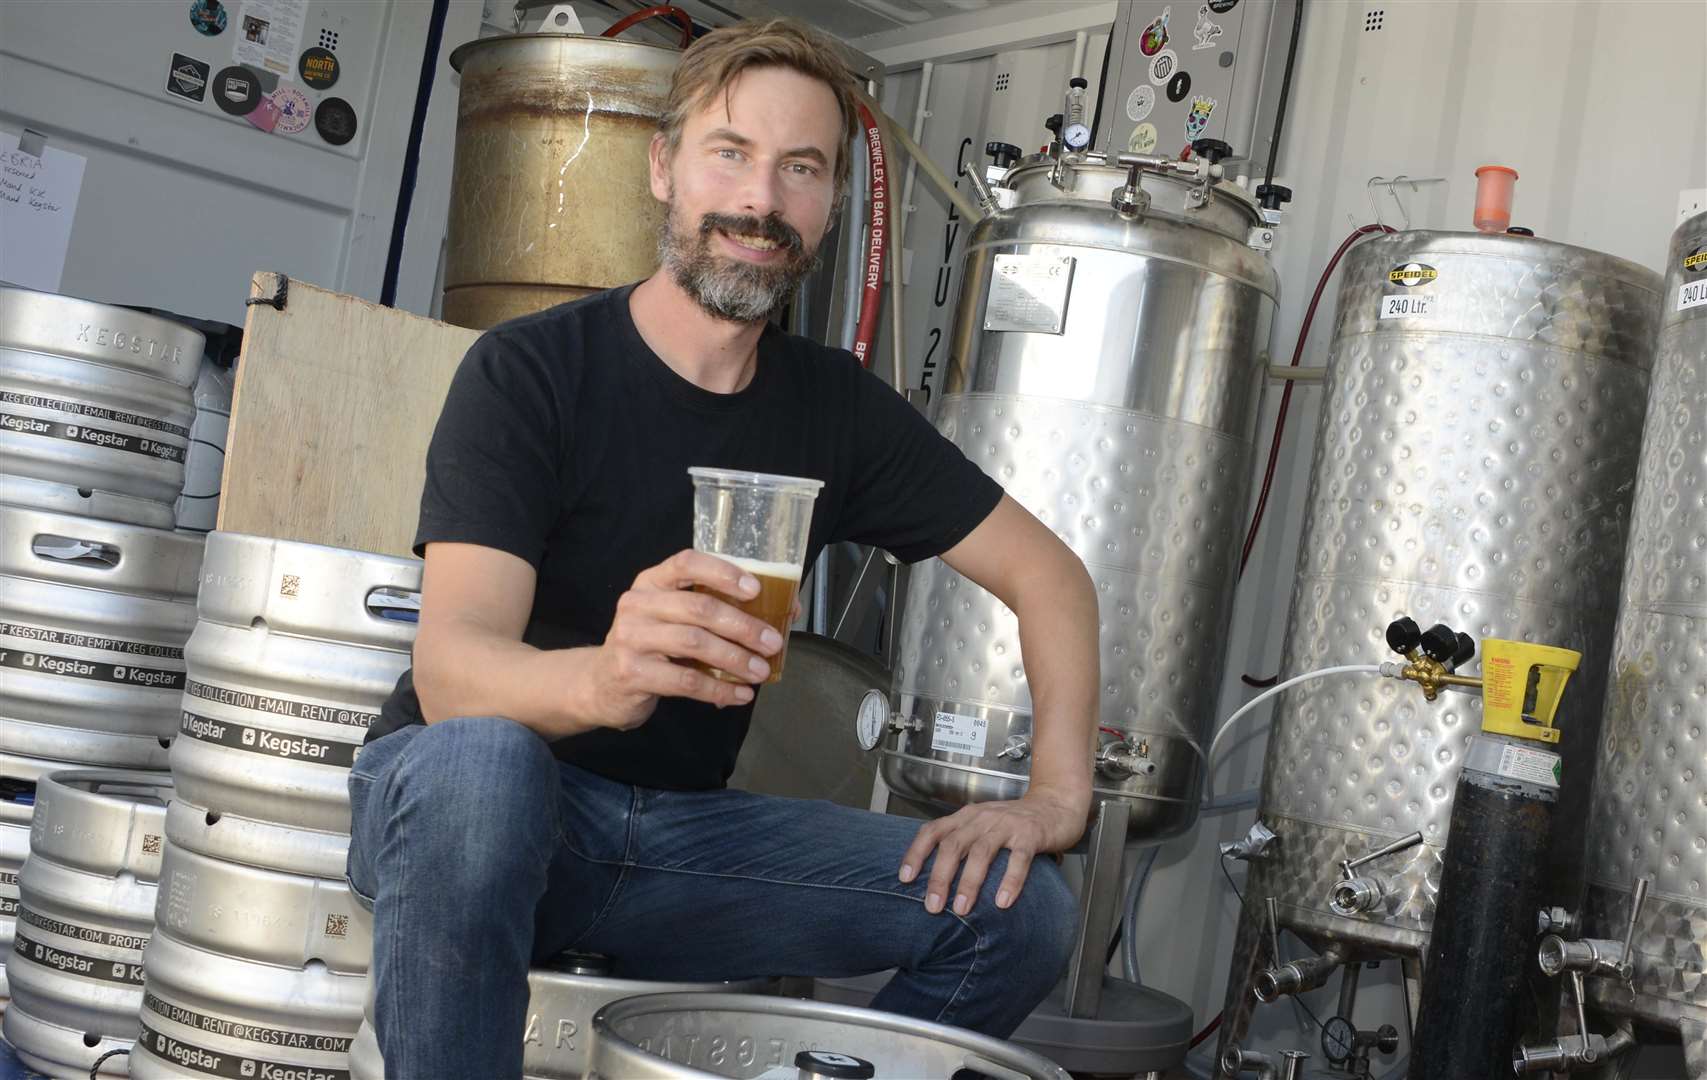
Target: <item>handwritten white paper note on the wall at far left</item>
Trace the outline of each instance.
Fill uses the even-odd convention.
[[[51,143],[24,154],[0,131],[0,282],[58,292],[85,160]]]

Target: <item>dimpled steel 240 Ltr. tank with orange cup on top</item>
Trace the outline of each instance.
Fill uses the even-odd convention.
[[[1282,676],[1391,659],[1381,633],[1398,616],[1579,650],[1555,879],[1584,836],[1659,285],[1533,237],[1403,232],[1355,247],[1340,287]],[[1282,696],[1260,812],[1279,841],[1251,863],[1222,1049],[1253,986],[1320,984],[1352,957],[1407,957],[1417,974],[1480,720],[1480,698],[1427,703],[1374,676]],[[1342,862],[1412,833],[1357,870],[1367,889],[1335,889]],[[1268,897],[1320,961],[1272,969]]]

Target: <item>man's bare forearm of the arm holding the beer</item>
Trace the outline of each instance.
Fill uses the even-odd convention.
[[[594,727],[575,715],[570,693],[591,652],[546,652],[452,621],[423,628],[417,638],[415,693],[427,723],[504,717],[556,739]]]

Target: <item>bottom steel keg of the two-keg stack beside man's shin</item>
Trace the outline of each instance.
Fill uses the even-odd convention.
[[[131,1077],[347,1075],[372,930],[343,880],[169,839],[155,916]]]

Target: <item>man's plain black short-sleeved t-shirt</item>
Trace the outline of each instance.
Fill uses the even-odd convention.
[[[690,466],[811,476],[807,566],[835,541],[918,561],[982,522],[1002,488],[843,350],[766,328],[734,394],[702,389],[654,353],[633,287],[485,333],[451,382],[427,450],[415,551],[466,543],[538,572],[522,640],[597,645],[647,566],[693,544]],[[664,698],[638,729],[560,739],[556,756],[650,788],[720,788],[753,708]],[[367,739],[422,723],[410,674]]]

